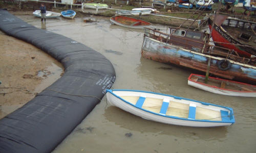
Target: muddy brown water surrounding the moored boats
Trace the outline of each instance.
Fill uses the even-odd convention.
[[[48,19],[41,25],[32,15],[18,17],[37,28],[67,36],[97,50],[115,67],[112,88],[136,89],[196,99],[233,108],[236,123],[222,127],[186,127],[149,121],[101,103],[59,144],[58,152],[255,152],[256,99],[225,96],[187,85],[190,73],[174,65],[141,58],[143,30],[112,25],[109,18]],[[163,25],[155,27],[166,30]],[[61,127],[60,127],[61,129]]]

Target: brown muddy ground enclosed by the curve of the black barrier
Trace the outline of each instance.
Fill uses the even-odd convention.
[[[60,78],[62,65],[35,46],[0,31],[0,118]]]

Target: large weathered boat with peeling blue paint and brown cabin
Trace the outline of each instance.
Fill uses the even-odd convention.
[[[216,76],[256,83],[254,59],[237,56],[232,50],[209,44],[208,34],[169,28],[169,33],[145,28],[141,57],[161,63],[175,64]]]

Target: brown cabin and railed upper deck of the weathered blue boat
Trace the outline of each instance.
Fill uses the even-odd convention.
[[[183,30],[169,27],[168,33],[156,29],[145,28],[144,37],[150,37],[162,43],[179,46],[197,53],[214,55],[222,58],[238,61],[244,64],[255,65],[254,58],[247,59],[238,56],[236,51],[221,46],[215,46],[209,42],[209,34],[200,31]],[[242,36],[246,37],[246,36]]]

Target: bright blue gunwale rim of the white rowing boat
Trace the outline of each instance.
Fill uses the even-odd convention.
[[[113,93],[112,91],[132,91],[132,92],[144,92],[144,93],[152,93],[152,94],[158,94],[158,95],[163,95],[163,96],[169,96],[169,97],[173,97],[175,99],[184,99],[184,100],[189,100],[189,101],[194,101],[194,102],[197,102],[197,103],[201,103],[202,105],[211,105],[211,106],[216,106],[216,107],[221,107],[221,108],[225,108],[227,110],[230,111],[230,115],[232,119],[230,119],[230,121],[212,121],[212,120],[197,120],[197,119],[188,119],[188,118],[181,118],[181,117],[176,117],[176,116],[168,116],[168,115],[162,115],[160,113],[155,113],[155,112],[151,112],[151,111],[148,111],[148,110],[145,110],[143,108],[139,108],[139,107],[136,107],[135,105],[129,103],[129,101],[126,101],[124,100],[123,98],[119,97],[118,95],[116,95],[115,93]],[[178,96],[174,96],[174,95],[167,95],[167,94],[162,94],[162,93],[155,93],[155,92],[150,92],[150,91],[140,91],[140,90],[126,90],[126,89],[114,89],[114,90],[110,90],[110,89],[107,89],[106,92],[109,92],[111,94],[113,94],[115,97],[121,99],[122,101],[124,101],[125,103],[137,108],[137,109],[140,109],[140,110],[143,110],[145,112],[148,112],[148,113],[151,113],[151,114],[155,114],[155,115],[159,115],[159,116],[163,116],[163,117],[168,117],[168,118],[174,118],[174,119],[180,119],[180,120],[188,120],[188,121],[199,121],[199,122],[218,122],[218,123],[234,123],[235,122],[235,119],[234,119],[234,116],[233,116],[233,109],[232,108],[229,108],[229,107],[225,107],[225,106],[220,106],[220,105],[215,105],[215,104],[209,104],[209,103],[204,103],[202,101],[198,101],[198,100],[194,100],[194,99],[188,99],[188,98],[183,98],[183,97],[178,97]],[[230,117],[229,117],[230,118]]]

